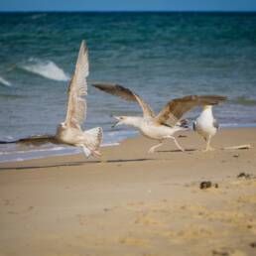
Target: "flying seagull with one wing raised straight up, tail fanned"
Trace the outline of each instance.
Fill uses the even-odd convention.
[[[56,134],[39,135],[9,143],[44,144],[51,142],[79,147],[86,158],[91,155],[100,155],[98,149],[102,142],[102,128],[96,127],[82,131],[80,127],[86,115],[86,100],[83,96],[87,95],[86,77],[89,74],[87,52],[86,44],[82,41],[75,70],[68,86],[65,120],[58,126]]]

